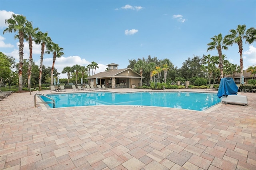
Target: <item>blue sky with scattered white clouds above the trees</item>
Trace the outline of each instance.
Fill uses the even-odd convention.
[[[22,14],[33,27],[48,32],[54,43],[64,48],[56,59],[58,72],[66,66],[98,63],[96,73],[110,63],[126,68],[129,59],[148,55],[168,58],[174,66],[194,55],[218,55],[207,51],[213,36],[229,34],[239,24],[256,26],[256,1],[174,1],[174,0],[1,0],[0,51],[18,61],[18,40],[5,33],[4,21]],[[238,45],[223,50],[227,59],[240,65]],[[33,46],[33,58],[40,63],[40,45]],[[244,42],[244,67],[256,65],[256,43]],[[25,42],[24,58],[29,57]],[[44,55],[44,65],[52,66],[52,54]],[[60,78],[66,78],[60,75]]]

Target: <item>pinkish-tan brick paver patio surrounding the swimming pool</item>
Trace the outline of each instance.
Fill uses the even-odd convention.
[[[0,101],[1,170],[256,169],[255,93],[241,93],[248,96],[248,106],[218,104],[205,112],[135,106],[45,109],[34,107],[34,93]]]

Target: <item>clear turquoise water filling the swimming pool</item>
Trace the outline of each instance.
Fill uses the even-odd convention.
[[[97,106],[97,105],[136,105],[171,107],[203,111],[221,100],[214,93],[188,92],[138,92],[138,93],[65,93],[48,94],[58,107]],[[44,101],[49,101],[41,96]],[[52,104],[49,104],[52,107]]]

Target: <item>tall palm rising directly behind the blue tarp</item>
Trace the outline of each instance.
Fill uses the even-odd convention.
[[[222,34],[220,33],[218,36],[214,36],[211,38],[212,42],[208,43],[209,46],[207,51],[209,50],[218,50],[219,54],[219,69],[220,69],[220,78],[223,78],[223,59],[222,59],[222,49],[228,49],[225,45],[223,45]]]

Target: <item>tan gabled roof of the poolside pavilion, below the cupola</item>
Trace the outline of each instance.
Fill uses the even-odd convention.
[[[140,78],[140,74],[138,74],[138,73],[136,73],[136,75],[138,75],[138,76],[118,75],[126,70],[130,70],[130,71],[136,73],[131,68],[126,68],[126,69],[118,69],[118,70],[111,70],[111,71],[103,71],[103,72],[94,74],[92,76],[89,76],[86,79],[107,78],[107,77]],[[144,78],[144,77],[142,77],[142,78]]]

